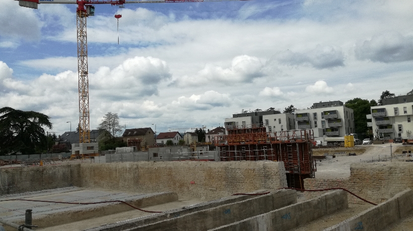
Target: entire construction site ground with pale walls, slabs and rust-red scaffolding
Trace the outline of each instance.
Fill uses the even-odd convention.
[[[411,146],[313,149],[312,139],[252,126],[229,129],[215,150],[5,165],[0,222],[10,231],[413,229]]]

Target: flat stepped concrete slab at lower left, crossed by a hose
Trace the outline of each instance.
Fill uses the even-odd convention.
[[[17,224],[24,223],[25,210],[32,209],[33,224],[36,224],[39,227],[48,227],[134,209],[119,202],[80,205],[36,201],[4,201],[4,199],[16,198],[79,203],[123,200],[134,206],[142,207],[176,201],[178,196],[176,193],[172,192],[140,194],[133,192],[83,189],[63,190],[62,193],[51,193],[50,195],[47,195],[44,192],[39,192],[39,195],[31,193],[30,196],[26,197],[13,195],[0,200],[0,216],[3,219]]]

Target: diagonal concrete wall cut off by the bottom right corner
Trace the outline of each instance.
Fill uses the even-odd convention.
[[[326,229],[325,231],[351,231],[351,230],[384,230],[386,227],[413,212],[413,191],[407,189],[396,194],[386,202],[374,206],[357,216]]]

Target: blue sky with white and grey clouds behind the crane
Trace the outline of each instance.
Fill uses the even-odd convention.
[[[76,5],[0,3],[0,108],[73,131]],[[90,129],[107,112],[159,133],[223,126],[241,110],[406,94],[412,10],[412,0],[97,4],[87,18]]]

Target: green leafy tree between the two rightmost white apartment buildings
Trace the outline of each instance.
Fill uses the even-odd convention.
[[[376,101],[361,98],[353,98],[344,103],[344,106],[353,109],[355,133],[365,133],[367,131],[366,115],[370,114],[370,107],[376,106]]]

